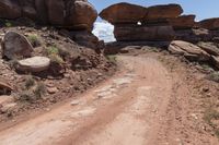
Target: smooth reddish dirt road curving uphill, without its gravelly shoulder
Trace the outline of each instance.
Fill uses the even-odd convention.
[[[117,75],[72,102],[1,131],[0,145],[181,145],[175,134],[158,140],[177,77],[152,57],[118,62]]]

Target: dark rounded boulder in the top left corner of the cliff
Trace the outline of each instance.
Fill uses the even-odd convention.
[[[22,15],[22,9],[15,0],[0,1],[0,17],[2,19],[18,19]]]

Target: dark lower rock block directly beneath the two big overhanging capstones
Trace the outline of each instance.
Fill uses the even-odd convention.
[[[116,25],[114,29],[115,38],[118,41],[141,41],[141,40],[163,40],[174,39],[172,26],[129,26]]]

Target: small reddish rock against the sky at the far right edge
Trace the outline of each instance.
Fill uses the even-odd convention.
[[[200,27],[204,27],[207,29],[218,29],[219,28],[219,17],[203,20],[198,24]]]

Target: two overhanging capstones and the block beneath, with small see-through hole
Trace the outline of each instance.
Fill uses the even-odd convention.
[[[182,12],[178,4],[145,8],[122,2],[104,9],[100,16],[115,26],[114,35],[118,41],[169,41],[174,39],[174,31],[168,20]]]

